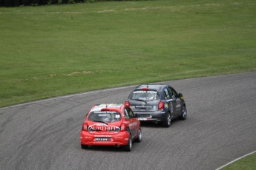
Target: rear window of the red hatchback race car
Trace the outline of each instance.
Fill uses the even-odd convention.
[[[121,120],[121,114],[114,111],[94,111],[90,113],[88,120],[110,123]]]

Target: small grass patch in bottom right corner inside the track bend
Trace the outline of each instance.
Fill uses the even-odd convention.
[[[256,154],[251,154],[247,157],[243,157],[240,160],[224,167],[221,170],[255,170],[256,169]]]

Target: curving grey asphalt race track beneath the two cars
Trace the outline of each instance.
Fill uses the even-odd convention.
[[[183,93],[186,120],[143,124],[131,152],[83,150],[79,133],[95,103],[124,103],[134,86],[0,109],[0,169],[217,169],[256,150],[256,72],[168,81]]]

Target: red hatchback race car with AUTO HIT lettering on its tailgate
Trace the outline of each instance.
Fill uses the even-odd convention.
[[[86,115],[80,139],[82,149],[89,145],[123,146],[130,152],[132,141],[142,140],[140,120],[124,104],[96,104]]]

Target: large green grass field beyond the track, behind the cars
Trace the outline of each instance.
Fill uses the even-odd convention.
[[[256,71],[255,1],[0,7],[0,107]]]

